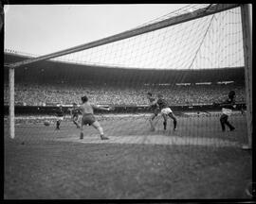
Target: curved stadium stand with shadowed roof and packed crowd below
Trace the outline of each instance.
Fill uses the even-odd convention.
[[[5,53],[6,63],[29,59]],[[9,104],[9,76],[5,67],[4,104]],[[162,93],[174,105],[209,104],[222,100],[230,90],[236,101],[246,102],[244,67],[202,70],[139,70],[40,61],[15,70],[15,104],[44,106],[79,103],[87,94],[97,104],[146,105],[145,93]],[[37,77],[35,77],[37,76]],[[204,77],[202,77],[204,76]],[[91,80],[91,81],[90,81]],[[210,85],[177,86],[176,83]],[[233,81],[217,84],[218,81]],[[168,86],[160,84],[170,84]],[[151,84],[151,85],[149,85]]]

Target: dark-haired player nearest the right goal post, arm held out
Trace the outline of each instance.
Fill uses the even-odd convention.
[[[213,105],[215,106],[219,106],[222,108],[222,115],[220,117],[220,123],[221,123],[221,128],[222,128],[222,131],[225,131],[226,130],[226,126],[229,127],[230,131],[233,131],[235,129],[235,127],[233,127],[228,119],[229,119],[229,116],[231,115],[231,112],[232,110],[234,110],[235,108],[235,92],[234,91],[230,91],[229,92],[229,95],[228,95],[228,98],[222,102],[222,103],[213,103]]]

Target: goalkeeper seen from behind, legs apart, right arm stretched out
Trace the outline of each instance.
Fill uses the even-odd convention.
[[[86,95],[82,96],[82,105],[77,108],[77,110],[80,110],[82,112],[82,122],[81,122],[81,133],[80,133],[80,139],[83,139],[83,126],[89,125],[92,127],[95,127],[99,130],[101,134],[101,140],[108,140],[108,137],[104,136],[103,129],[101,127],[101,124],[96,120],[94,116],[95,109],[97,110],[110,110],[109,108],[101,108],[97,105],[91,104],[88,102],[88,98]]]

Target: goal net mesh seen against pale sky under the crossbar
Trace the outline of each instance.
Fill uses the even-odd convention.
[[[185,11],[189,10],[192,8]],[[173,16],[174,13],[159,18],[158,21]],[[157,21],[142,26],[155,22]],[[240,8],[232,8],[54,60],[141,69],[240,67],[244,65]]]

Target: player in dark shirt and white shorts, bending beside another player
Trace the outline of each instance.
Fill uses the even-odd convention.
[[[155,102],[153,102],[153,104],[157,104],[161,110],[161,115],[164,118],[164,127],[166,129],[166,125],[167,125],[167,117],[171,117],[174,120],[174,131],[176,130],[176,126],[177,126],[177,119],[174,115],[173,110],[170,109],[168,102],[163,98],[162,94],[158,94],[158,99],[155,100]]]

